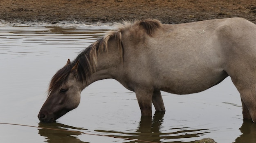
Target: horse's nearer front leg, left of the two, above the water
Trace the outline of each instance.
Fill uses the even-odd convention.
[[[152,116],[152,96],[153,90],[150,89],[136,89],[136,98],[139,103],[141,116]]]

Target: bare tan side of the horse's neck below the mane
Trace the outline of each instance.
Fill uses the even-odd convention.
[[[103,51],[102,53],[98,54],[97,67],[88,77],[86,86],[97,80],[115,78],[122,65],[117,41],[115,39],[111,39],[108,42],[107,51]]]

